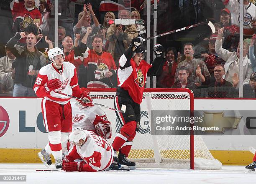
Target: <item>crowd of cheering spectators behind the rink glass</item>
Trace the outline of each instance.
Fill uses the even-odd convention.
[[[61,48],[65,60],[77,68],[80,87],[117,86],[116,71],[120,56],[128,49],[133,38],[145,38],[146,31],[151,31],[151,27],[146,28],[146,24],[110,25],[108,20],[131,18],[146,21],[145,2],[59,0],[56,47]],[[161,7],[164,0],[157,2]],[[239,96],[239,80],[242,80],[243,97],[255,98],[255,1],[174,2],[179,7],[180,19],[177,21],[182,22],[180,25],[211,20],[216,32],[212,34],[209,31],[203,37],[199,34],[201,42],[186,39],[173,45],[158,42],[166,47],[166,62],[157,76],[156,87],[189,88],[195,97],[227,98]],[[215,19],[204,14],[210,2],[213,5],[221,3]],[[243,3],[244,7],[243,48],[239,45],[239,3]],[[76,5],[81,6],[81,12],[76,12]],[[47,50],[54,47],[54,8],[54,0],[1,0],[1,96],[36,96],[33,84],[40,68],[50,63]],[[239,79],[240,49],[243,49],[243,79]]]

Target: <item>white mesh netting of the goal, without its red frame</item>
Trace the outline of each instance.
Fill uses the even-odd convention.
[[[115,92],[90,92],[93,102],[114,107]],[[141,103],[140,129],[133,139],[129,159],[134,162],[155,163],[156,156],[161,163],[189,164],[190,138],[187,135],[151,136],[150,110],[190,110],[187,92],[144,92]],[[115,111],[102,108],[112,124],[113,142],[120,132],[120,123]],[[148,110],[149,109],[149,110]],[[195,158],[214,159],[201,136],[194,136]],[[156,151],[158,150],[158,152]],[[158,154],[158,155],[156,155]],[[159,163],[159,160],[157,161]],[[189,165],[188,165],[189,167]]]

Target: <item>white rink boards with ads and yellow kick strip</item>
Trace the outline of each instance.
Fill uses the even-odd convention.
[[[255,105],[255,100],[195,99],[195,110],[249,111],[256,107]],[[0,162],[40,162],[37,152],[48,142],[41,116],[41,99],[1,98],[0,106]],[[110,111],[108,109],[104,111],[107,114],[112,113],[108,112]],[[145,111],[143,104],[141,111]],[[111,116],[109,120],[113,122],[115,117]],[[244,127],[245,122],[241,121],[239,128],[242,130]],[[213,157],[223,164],[247,164],[251,162],[253,156],[248,151],[248,147],[256,147],[255,136],[236,134],[230,132],[227,136],[207,135],[203,136],[203,139]],[[139,145],[136,149],[139,149]],[[149,150],[150,148],[143,149],[143,152],[148,154]]]

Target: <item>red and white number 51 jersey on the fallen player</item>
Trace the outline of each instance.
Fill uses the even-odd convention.
[[[87,134],[87,141],[81,147],[73,146],[67,157],[73,161],[82,159],[86,163],[81,169],[84,172],[97,172],[110,167],[113,162],[113,147],[94,132],[84,132]]]

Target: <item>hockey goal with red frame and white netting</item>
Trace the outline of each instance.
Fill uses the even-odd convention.
[[[114,107],[115,88],[88,89],[93,102]],[[102,109],[111,122],[112,143],[122,124],[115,111]],[[189,110],[193,115],[194,96],[188,89],[145,89],[140,128],[128,157],[136,167],[221,169],[222,164],[212,157],[201,136],[151,135],[152,110]]]

